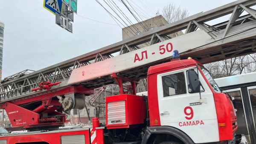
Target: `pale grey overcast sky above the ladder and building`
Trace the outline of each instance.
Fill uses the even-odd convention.
[[[103,0],[99,0],[102,4]],[[135,19],[129,15],[133,23]],[[189,15],[231,3],[234,0],[131,0],[148,18],[169,3],[188,9]],[[122,29],[95,0],[78,0],[73,34],[55,24],[55,15],[43,7],[44,0],[0,0],[4,22],[3,78],[25,69],[39,70],[100,49],[122,39]],[[143,3],[148,3],[143,6]],[[142,10],[140,10],[142,11]],[[82,16],[82,17],[81,17]],[[87,17],[105,23],[85,19]]]

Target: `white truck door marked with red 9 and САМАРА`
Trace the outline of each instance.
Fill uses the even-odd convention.
[[[186,71],[180,69],[157,75],[157,93],[162,126],[176,127],[195,143],[219,141],[218,121],[213,93],[203,76],[201,101],[198,93],[189,93]],[[197,72],[196,68],[193,68]]]

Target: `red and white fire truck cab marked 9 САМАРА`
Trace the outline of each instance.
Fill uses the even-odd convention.
[[[230,98],[195,60],[148,69],[149,141],[192,144],[232,141],[237,129]],[[161,133],[161,134],[159,134]]]

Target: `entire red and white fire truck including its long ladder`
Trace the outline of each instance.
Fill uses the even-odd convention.
[[[238,0],[39,71],[3,79],[0,109],[6,110],[12,127],[36,134],[6,134],[0,136],[0,143],[243,142],[235,137],[232,101],[201,63],[255,52],[254,5],[255,0]],[[240,16],[244,11],[248,14]],[[227,14],[229,20],[209,24]],[[169,37],[181,30],[184,35]],[[170,61],[179,57],[192,59]],[[138,96],[138,81],[146,77],[148,95]],[[125,82],[129,82],[126,89]],[[68,122],[71,109],[85,107],[85,97],[93,95],[94,88],[114,83],[120,95],[105,99],[106,125],[93,118],[90,128],[56,130]]]

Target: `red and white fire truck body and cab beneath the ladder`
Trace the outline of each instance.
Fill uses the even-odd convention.
[[[115,73],[113,78],[117,81],[130,81],[120,78]],[[136,85],[134,81],[130,82],[131,85]],[[0,136],[0,141],[7,141],[8,144],[28,142],[193,144],[236,141],[236,112],[230,98],[221,93],[209,71],[195,60],[177,59],[149,67],[148,97],[134,95],[134,89],[131,94],[126,94],[122,89],[122,83],[118,84],[121,88],[120,95],[106,98],[105,127],[94,118],[92,128],[7,134]],[[70,92],[71,89],[68,90]],[[78,90],[79,88],[76,92]],[[52,109],[54,106],[50,105],[56,107],[61,106],[62,103],[58,103],[55,97],[50,102],[44,103],[44,101],[42,100],[42,107],[35,109],[35,112],[51,111],[58,114],[58,109]],[[24,124],[23,119],[25,119],[30,123],[25,125],[26,127],[34,127],[33,121],[39,119],[40,115],[37,113],[31,115],[31,112],[26,115],[26,110],[15,104],[6,102],[2,106],[8,112],[12,125]],[[57,115],[50,119],[44,118],[43,113],[40,121],[48,122],[56,119],[58,119]],[[65,117],[61,115],[58,120],[59,123],[65,122]],[[44,124],[49,126],[49,123],[38,125],[43,127]]]

